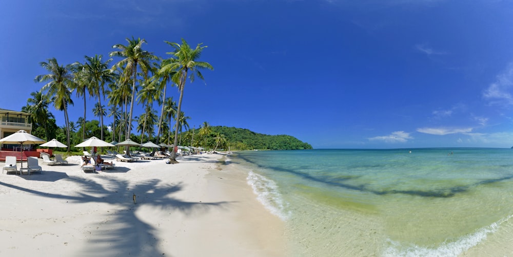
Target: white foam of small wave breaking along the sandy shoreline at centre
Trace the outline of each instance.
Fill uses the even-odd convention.
[[[286,204],[280,195],[278,185],[273,180],[250,171],[247,181],[253,188],[253,192],[257,195],[258,201],[266,209],[282,220],[288,219],[290,213],[285,210]]]

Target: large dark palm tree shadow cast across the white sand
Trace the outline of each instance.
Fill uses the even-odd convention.
[[[75,203],[107,203],[112,208],[105,218],[91,226],[91,234],[86,236],[88,246],[78,250],[78,255],[102,256],[162,256],[165,249],[159,249],[159,241],[165,240],[157,237],[157,230],[150,224],[142,221],[135,215],[141,207],[157,208],[165,211],[181,211],[186,215],[201,215],[211,208],[227,208],[232,202],[186,202],[171,195],[183,189],[183,184],[160,184],[162,181],[151,179],[130,184],[129,181],[114,178],[101,178],[102,183],[93,180],[74,179],[80,188],[77,196],[49,194],[16,185],[0,182],[0,185],[30,194],[66,199]],[[136,195],[136,204],[133,202]],[[166,255],[169,256],[169,255]]]

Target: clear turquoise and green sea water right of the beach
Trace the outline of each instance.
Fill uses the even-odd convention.
[[[512,157],[493,148],[314,149],[229,161],[285,221],[294,256],[513,256]]]

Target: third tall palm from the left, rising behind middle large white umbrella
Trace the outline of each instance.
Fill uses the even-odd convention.
[[[102,105],[102,98],[105,99],[105,83],[115,79],[114,73],[107,68],[112,59],[102,61],[102,55],[94,55],[94,57],[86,55],[84,58],[86,62],[82,66],[83,79],[89,84],[91,95],[98,98],[98,104],[95,106],[100,108],[99,113],[102,113],[102,115],[100,115],[100,128],[101,139],[103,140],[103,108],[105,106]]]

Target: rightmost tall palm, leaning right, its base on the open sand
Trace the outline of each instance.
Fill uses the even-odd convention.
[[[165,41],[171,47],[174,48],[174,51],[170,54],[172,55],[172,61],[169,64],[162,67],[161,72],[170,73],[171,71],[177,71],[171,78],[171,80],[178,84],[180,90],[180,99],[178,100],[178,109],[176,113],[178,116],[181,114],[182,108],[182,98],[184,96],[184,88],[185,82],[187,78],[190,82],[194,81],[194,77],[203,78],[203,75],[200,72],[200,69],[210,69],[213,70],[213,67],[208,62],[199,61],[201,52],[206,46],[202,47],[202,44],[198,44],[195,49],[191,49],[187,44],[185,39],[182,38],[182,45],[177,44],[175,42]],[[180,125],[180,117],[176,119],[176,126],[174,130],[174,145],[178,143],[178,127]],[[171,162],[176,163],[176,152],[175,148],[171,152],[171,157],[169,158]]]

